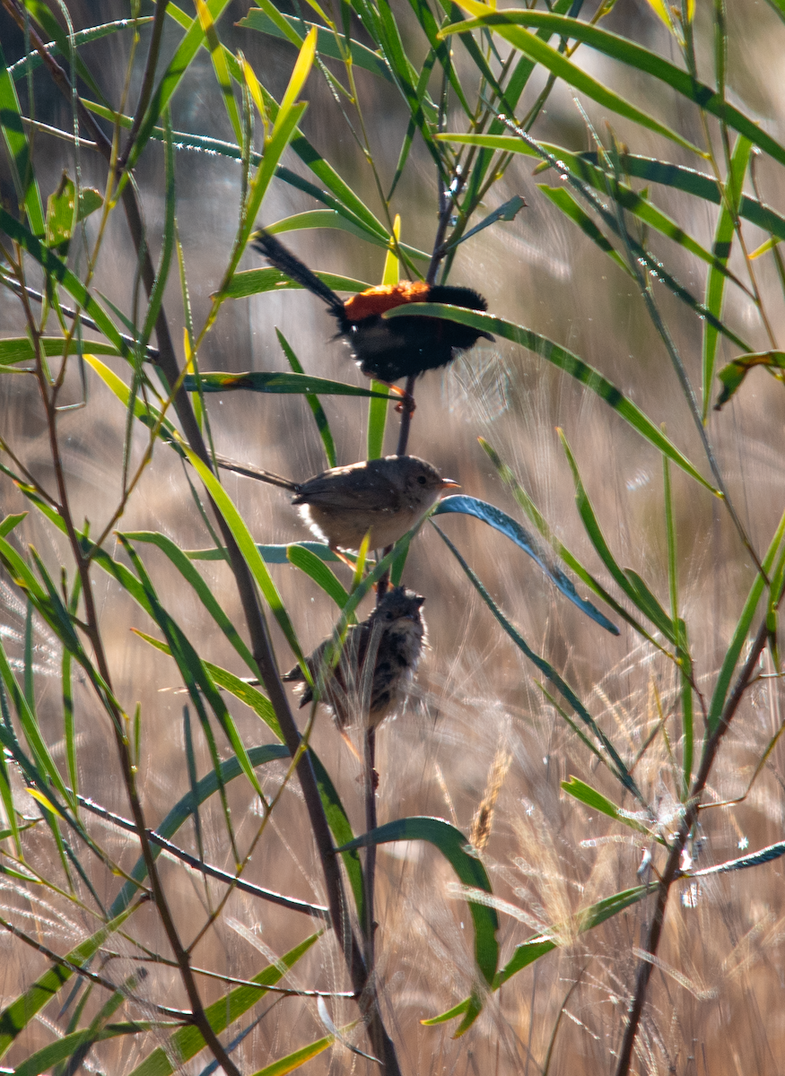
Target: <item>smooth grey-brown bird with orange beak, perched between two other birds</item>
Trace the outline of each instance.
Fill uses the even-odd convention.
[[[370,532],[370,549],[392,546],[420,520],[439,495],[458,486],[417,456],[383,456],[332,467],[306,482],[216,456],[219,467],[279,485],[295,494],[307,526],[331,549],[358,550]]]

